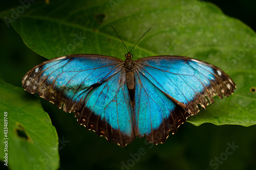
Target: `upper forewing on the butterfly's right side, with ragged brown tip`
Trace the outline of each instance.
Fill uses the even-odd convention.
[[[186,105],[190,115],[214,103],[216,94],[229,96],[236,89],[232,79],[220,68],[209,63],[181,56],[155,56],[135,61],[136,69],[160,90]]]

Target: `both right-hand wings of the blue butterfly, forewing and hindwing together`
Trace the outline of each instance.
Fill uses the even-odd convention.
[[[135,61],[136,133],[154,143],[164,142],[167,132],[175,133],[189,115],[222,99],[236,89],[220,68],[188,57],[156,56]],[[206,99],[207,98],[207,99]]]

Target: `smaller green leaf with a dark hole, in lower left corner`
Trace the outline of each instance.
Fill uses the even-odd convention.
[[[36,96],[0,78],[0,113],[1,161],[10,169],[58,168],[57,133]]]

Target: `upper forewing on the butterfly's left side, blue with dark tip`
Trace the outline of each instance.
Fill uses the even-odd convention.
[[[32,68],[22,83],[28,92],[74,112],[92,85],[116,74],[121,63],[117,58],[90,54],[58,57]]]

